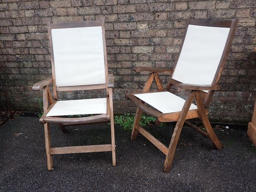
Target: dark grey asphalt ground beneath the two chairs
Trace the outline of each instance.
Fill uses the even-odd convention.
[[[169,145],[173,125],[147,128]],[[111,143],[110,125],[67,127],[51,124],[52,147]],[[256,148],[244,130],[216,128],[224,144],[216,150],[209,139],[183,127],[170,173],[165,155],[143,136],[115,126],[116,166],[111,152],[53,156],[47,170],[44,128],[38,117],[15,117],[0,127],[0,191],[256,191]]]

